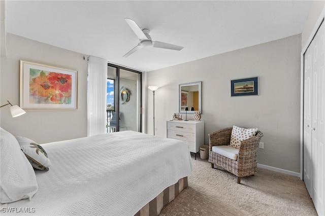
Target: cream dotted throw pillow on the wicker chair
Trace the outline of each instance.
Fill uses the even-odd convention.
[[[232,135],[230,137],[230,145],[236,149],[240,148],[241,141],[248,139],[252,136],[255,136],[257,128],[242,128],[242,127],[233,127]]]

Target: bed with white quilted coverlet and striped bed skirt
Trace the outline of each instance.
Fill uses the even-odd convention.
[[[9,176],[4,166],[12,164],[4,161],[4,132],[2,192]],[[2,203],[2,215],[157,215],[186,188],[192,170],[185,142],[134,131],[40,146],[51,165],[48,171],[33,169],[37,192]]]

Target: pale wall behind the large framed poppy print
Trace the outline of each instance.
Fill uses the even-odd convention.
[[[87,56],[7,34],[7,55],[1,56],[2,105],[7,100],[19,105],[20,59],[78,70],[78,110],[26,110],[12,118],[8,105],[1,108],[1,127],[38,143],[87,136]]]

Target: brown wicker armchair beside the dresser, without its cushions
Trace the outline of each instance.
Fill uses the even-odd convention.
[[[212,151],[213,146],[228,146],[233,128],[224,128],[209,134],[209,162],[211,167],[214,164],[233,173],[237,176],[237,183],[240,178],[254,175],[257,172],[257,148],[263,133],[257,131],[255,136],[241,141],[237,160],[219,155]]]

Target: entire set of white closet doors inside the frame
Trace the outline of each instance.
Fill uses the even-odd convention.
[[[318,215],[325,214],[325,30],[304,55],[303,179]]]

